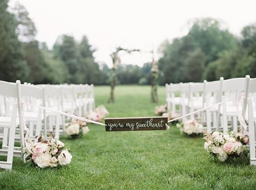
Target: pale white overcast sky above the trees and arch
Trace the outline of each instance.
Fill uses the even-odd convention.
[[[10,0],[12,5],[16,0]],[[220,19],[233,34],[256,22],[255,0],[19,0],[38,30],[37,39],[51,48],[61,34],[80,40],[87,35],[98,49],[96,61],[112,65],[115,47],[157,51],[165,39],[187,34],[187,21]],[[122,63],[151,61],[152,55],[123,55]],[[155,56],[158,58],[158,55]]]

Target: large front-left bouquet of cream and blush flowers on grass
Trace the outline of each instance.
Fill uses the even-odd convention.
[[[47,137],[36,136],[35,140],[28,139],[29,150],[25,148],[27,166],[57,167],[71,162],[72,155],[61,141],[56,141],[53,134]]]

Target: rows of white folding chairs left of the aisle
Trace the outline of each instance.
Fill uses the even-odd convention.
[[[13,156],[22,157],[24,147],[24,122],[29,126],[30,138],[41,132],[53,132],[56,139],[62,131],[66,118],[59,113],[42,110],[38,106],[82,116],[94,110],[93,85],[31,85],[0,81],[0,134],[2,149],[0,155],[7,161],[0,161],[0,168],[11,169]],[[18,110],[18,115],[17,115]],[[43,124],[43,128],[42,128]],[[60,129],[62,126],[62,129]],[[17,134],[15,134],[17,133]],[[14,142],[20,142],[19,147]]]

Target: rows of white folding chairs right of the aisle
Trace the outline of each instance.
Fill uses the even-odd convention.
[[[243,94],[240,97],[238,95]],[[168,112],[185,115],[189,112],[212,106],[232,97],[237,97],[222,105],[207,109],[197,117],[206,126],[206,130],[226,133],[228,130],[240,130],[238,127],[237,107],[249,125],[251,164],[256,165],[255,157],[255,123],[256,123],[256,78],[231,78],[203,83],[166,84],[166,101]],[[193,114],[191,117],[195,117]],[[183,121],[185,118],[183,118]],[[252,146],[251,146],[252,145]]]

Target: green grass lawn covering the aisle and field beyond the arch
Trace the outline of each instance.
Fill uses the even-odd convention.
[[[118,86],[116,103],[108,104],[109,87],[95,87],[96,104],[109,117],[155,116],[164,103],[150,102],[149,86]],[[25,167],[14,159],[12,171],[0,170],[1,189],[256,189],[256,167],[208,160],[201,137],[187,138],[171,126],[168,131],[90,132],[76,140],[62,138],[73,159],[60,168]]]

